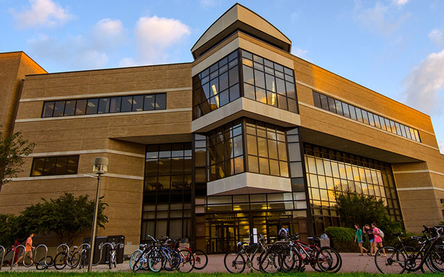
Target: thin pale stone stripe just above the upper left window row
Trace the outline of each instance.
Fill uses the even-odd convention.
[[[109,93],[80,94],[80,95],[71,95],[71,96],[24,98],[24,99],[20,99],[19,102],[71,100],[71,99],[80,99],[80,98],[99,98],[99,97],[107,97],[107,96],[128,96],[128,95],[133,95],[133,94],[162,93],[162,92],[169,92],[169,91],[189,91],[191,89],[193,89],[193,88],[192,87],[178,87],[175,89],[147,89],[144,91],[119,91],[119,92],[109,92]]]

